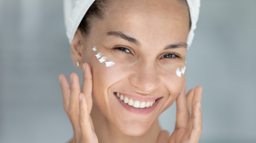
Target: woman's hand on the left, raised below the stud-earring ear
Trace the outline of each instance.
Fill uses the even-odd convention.
[[[70,74],[71,86],[65,75],[60,74],[60,86],[63,96],[63,107],[73,127],[73,143],[98,143],[90,116],[92,110],[92,73],[89,64],[84,63],[83,83],[80,92],[79,79],[76,73]]]

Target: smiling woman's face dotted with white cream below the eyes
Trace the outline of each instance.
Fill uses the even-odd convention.
[[[127,0],[109,2],[105,14],[84,43],[94,102],[118,130],[142,135],[181,92],[185,75],[179,77],[176,70],[185,66],[188,10],[176,0]],[[99,62],[98,52],[106,61]],[[108,61],[115,65],[106,67]],[[117,94],[141,108],[124,103]],[[145,107],[147,102],[154,104]]]

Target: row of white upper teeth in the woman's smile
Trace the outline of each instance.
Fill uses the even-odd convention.
[[[126,96],[123,96],[122,94],[120,93],[116,93],[117,97],[123,101],[124,103],[130,105],[130,106],[133,106],[134,108],[147,108],[147,107],[151,107],[155,102],[156,100],[154,101],[148,101],[148,102],[139,102],[138,100],[136,101],[133,101],[133,99],[129,99],[128,97]]]

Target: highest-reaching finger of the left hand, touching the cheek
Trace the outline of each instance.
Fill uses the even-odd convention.
[[[83,63],[83,83],[82,83],[82,93],[84,93],[88,105],[89,114],[92,110],[93,100],[92,100],[92,88],[93,88],[93,78],[90,65],[88,63]]]

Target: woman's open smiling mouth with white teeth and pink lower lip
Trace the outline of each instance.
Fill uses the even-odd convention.
[[[118,102],[121,103],[121,105],[129,110],[130,112],[137,113],[137,114],[148,114],[151,111],[155,109],[157,104],[159,103],[160,98],[154,100],[154,101],[142,101],[139,102],[137,100],[128,98],[126,96],[123,96],[123,94],[119,94],[117,92],[114,92],[114,96],[117,98]],[[152,98],[151,98],[152,100]]]

